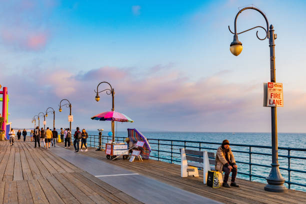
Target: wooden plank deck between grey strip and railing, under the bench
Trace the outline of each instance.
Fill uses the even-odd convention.
[[[63,143],[59,143],[63,146]],[[69,148],[74,151],[74,148]],[[197,193],[199,195],[218,200],[224,203],[305,203],[306,192],[289,189],[286,193],[267,192],[263,189],[264,183],[248,181],[237,178],[236,181],[240,188],[211,188],[202,183],[202,171],[199,172],[199,177],[180,177],[180,166],[156,160],[143,160],[140,162],[134,160],[129,162],[122,158],[109,160],[106,158],[104,151],[95,151],[89,147],[86,152],[79,152],[100,159],[105,162],[112,163],[122,168],[149,176],[153,179],[168,183],[172,186]],[[79,172],[78,174],[84,174]],[[94,178],[97,179],[97,178]],[[99,179],[98,179],[99,180]],[[101,180],[99,180],[101,181]]]

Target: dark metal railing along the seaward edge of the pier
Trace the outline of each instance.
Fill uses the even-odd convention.
[[[89,135],[87,139],[87,143],[89,146],[97,147],[98,146],[98,135]],[[115,141],[124,141],[126,137],[115,137]],[[105,145],[109,140],[111,140],[111,136],[102,135],[101,136],[101,142],[102,145]],[[198,150],[213,150],[213,152],[216,151],[217,147],[221,145],[219,142],[206,142],[206,141],[190,141],[190,140],[174,140],[174,139],[154,139],[154,138],[147,138],[151,145],[151,154],[150,157],[156,159],[156,160],[163,160],[170,163],[180,163],[180,152],[179,148],[189,148],[189,149],[198,149]],[[208,144],[208,146],[207,146]],[[239,174],[243,174],[249,177],[249,180],[252,180],[252,177],[258,177],[265,179],[265,176],[254,174],[252,167],[263,167],[261,170],[255,170],[255,171],[264,171],[264,173],[267,173],[270,171],[271,166],[269,165],[271,153],[268,153],[267,151],[271,149],[271,146],[263,146],[263,145],[250,145],[250,144],[230,144],[232,152],[237,152],[240,156],[237,156],[237,158],[247,158],[247,161],[242,160],[236,160],[236,163],[240,163],[242,165],[248,165],[247,169],[248,172],[238,171]],[[253,151],[253,149],[257,149],[256,151]],[[301,176],[301,180],[305,180],[304,177],[306,177],[306,170],[304,168],[306,167],[306,157],[305,151],[306,148],[290,148],[290,147],[278,147],[279,152],[287,152],[286,154],[278,154],[279,160],[281,162],[286,159],[287,167],[279,167],[279,169],[287,171],[287,179],[285,180],[285,183],[288,184],[288,188],[290,188],[291,185],[298,185],[306,187],[306,182],[297,182],[297,181],[291,181],[291,172],[297,172],[302,173],[303,176]],[[291,152],[297,153],[297,155],[291,155]],[[243,154],[247,154],[247,156],[243,156]],[[252,155],[260,155],[259,157],[253,157]],[[300,156],[302,155],[302,156]],[[235,155],[236,157],[236,155]],[[265,158],[266,157],[266,158]],[[295,162],[291,162],[291,159],[294,159]],[[253,160],[259,160],[260,163],[255,163]],[[291,164],[298,164],[300,166],[300,169],[291,168]],[[280,166],[283,166],[284,164],[281,163]]]

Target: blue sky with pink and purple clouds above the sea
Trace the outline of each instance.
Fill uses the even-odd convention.
[[[253,4],[273,24],[276,82],[284,106],[277,108],[279,132],[306,132],[306,2],[302,0],[0,0],[0,84],[8,88],[8,121],[33,127],[47,107],[56,128],[110,129],[90,117],[111,109],[133,123],[118,130],[271,131],[263,107],[263,83],[270,79],[268,39],[261,29],[239,34],[243,50],[229,51],[238,9]],[[237,31],[265,27],[262,15],[243,11]],[[108,88],[101,84],[99,89]],[[46,126],[52,127],[52,113]],[[41,119],[42,121],[42,119]],[[41,122],[42,123],[42,122]]]

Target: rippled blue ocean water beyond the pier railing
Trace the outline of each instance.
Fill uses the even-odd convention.
[[[140,130],[141,131],[141,130]],[[98,135],[97,131],[88,131],[88,134]],[[106,134],[105,132],[103,133]],[[207,142],[222,142],[223,139],[228,139],[230,144],[252,144],[252,145],[264,145],[264,146],[271,146],[271,133],[268,132],[148,132],[143,131],[142,134],[151,139],[175,139],[175,140],[191,140],[191,141],[207,141]],[[127,131],[118,131],[115,133],[116,136],[119,137],[127,137]],[[105,142],[105,140],[104,140]],[[157,143],[157,141],[151,140],[151,143]],[[160,143],[170,144],[169,141],[160,141]],[[176,145],[183,145],[183,142],[172,142],[173,144],[173,153],[172,158],[176,160],[180,160],[179,153],[179,146]],[[195,146],[194,148],[188,147],[189,149],[196,149],[198,150],[198,143],[189,143],[187,142],[186,145]],[[201,150],[204,150],[205,147],[208,148],[217,148],[219,145],[216,144],[201,144]],[[278,147],[291,147],[291,148],[303,148],[306,149],[306,133],[278,133]],[[157,144],[151,144],[152,149],[157,149]],[[169,145],[159,145],[160,150],[170,151]],[[249,147],[242,147],[242,146],[234,146],[231,145],[232,150],[242,150],[248,151]],[[215,152],[215,150],[209,150],[211,152]],[[252,152],[261,152],[261,153],[271,153],[271,149],[268,148],[255,148],[252,147]],[[240,152],[233,152],[236,161],[242,162],[249,162],[249,154],[248,153],[240,153]],[[151,151],[150,155],[157,156],[157,151]],[[288,155],[287,150],[278,149],[278,163],[280,164],[279,167],[288,168],[288,158],[280,157],[280,155]],[[302,156],[306,157],[306,151],[290,151],[290,155],[292,156]],[[171,154],[167,152],[159,152],[160,157],[170,158]],[[151,159],[156,159],[151,157]],[[169,162],[165,159],[160,159],[162,161]],[[259,155],[259,154],[251,154],[251,162],[270,165],[271,163],[271,156],[270,155]],[[179,162],[174,162],[178,163]],[[237,163],[238,165],[238,172],[249,173],[249,165]],[[306,169],[306,159],[290,159],[290,168],[291,169],[298,169],[298,170],[305,170]],[[260,176],[268,176],[270,172],[270,167],[262,167],[262,166],[255,166],[251,165],[251,173],[260,175]],[[285,180],[288,180],[288,171],[280,169],[282,176]],[[237,177],[249,180],[248,175],[244,175],[241,173],[237,174]],[[251,177],[251,180],[266,183],[264,178],[259,177]],[[291,182],[298,182],[306,184],[306,173],[301,172],[290,172],[290,181]],[[288,184],[285,183],[286,186]],[[291,189],[297,189],[306,191],[306,187],[291,184]]]

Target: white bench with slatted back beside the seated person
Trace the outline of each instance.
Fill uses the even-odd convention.
[[[181,148],[180,151],[180,176],[187,177],[189,175],[198,176],[197,168],[203,169],[203,183],[206,184],[207,172],[210,170],[210,165],[215,164],[215,155],[213,152],[197,151]],[[211,158],[208,158],[211,157]],[[212,169],[215,170],[215,169]],[[221,172],[222,173],[222,172]],[[220,183],[223,179],[220,179]]]

